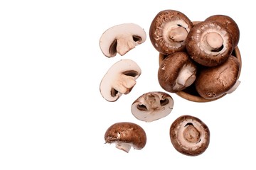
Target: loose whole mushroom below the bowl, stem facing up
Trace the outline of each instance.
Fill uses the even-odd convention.
[[[197,156],[208,148],[210,130],[199,118],[181,115],[171,124],[170,138],[178,152],[188,156]]]

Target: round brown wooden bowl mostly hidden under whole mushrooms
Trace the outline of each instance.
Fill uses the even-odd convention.
[[[235,50],[233,50],[232,55],[234,55],[235,57],[238,58],[238,61],[240,62],[240,67],[242,67],[242,59],[241,59],[241,55],[240,55],[240,50],[238,49],[238,47],[235,47]],[[159,54],[159,64],[164,60],[164,58],[166,57],[166,55],[163,54]],[[240,69],[241,72],[241,69]],[[238,78],[240,77],[240,72],[238,74]],[[209,101],[215,101],[219,98],[222,98],[223,96],[225,96],[225,94],[223,96],[220,96],[218,98],[213,98],[213,99],[206,99],[201,97],[198,92],[196,91],[196,87],[195,84],[191,84],[191,86],[188,86],[186,89],[184,89],[183,91],[178,91],[176,92],[176,94],[178,96],[181,96],[182,98],[185,98],[188,101],[195,101],[195,102],[209,102]]]

